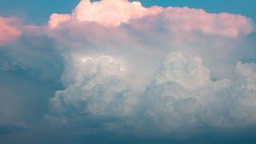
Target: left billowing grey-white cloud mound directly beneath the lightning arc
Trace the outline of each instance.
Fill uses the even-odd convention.
[[[91,59],[90,61],[88,59]],[[110,56],[77,58],[62,75],[66,90],[50,99],[54,116],[72,118],[82,114],[126,116],[134,109],[136,98],[120,76],[120,65]],[[67,81],[66,79],[70,79]],[[57,114],[57,115],[55,115]]]

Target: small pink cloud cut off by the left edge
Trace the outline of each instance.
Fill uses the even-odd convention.
[[[13,26],[14,22],[13,18],[0,17],[0,45],[13,42],[22,34],[18,27]]]

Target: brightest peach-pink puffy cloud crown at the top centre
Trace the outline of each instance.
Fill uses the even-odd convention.
[[[82,0],[71,15],[53,14],[50,17],[49,25],[51,28],[56,27],[72,17],[80,22],[119,26],[122,23],[127,23],[130,18],[142,18],[146,15],[159,14],[161,11],[161,7],[145,8],[140,2],[128,2],[128,0],[102,0],[101,2]]]

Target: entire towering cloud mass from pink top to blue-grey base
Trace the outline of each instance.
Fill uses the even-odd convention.
[[[53,83],[38,86],[48,92],[42,127],[169,138],[256,126],[250,18],[82,0],[71,14],[51,14],[46,26],[22,26],[22,34],[17,27],[0,18],[0,70]]]

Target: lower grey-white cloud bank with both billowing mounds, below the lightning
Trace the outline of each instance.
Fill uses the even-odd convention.
[[[135,94],[114,58],[98,62],[95,59],[101,57],[86,62],[77,55],[74,58],[78,61],[68,58],[72,66],[62,75],[65,90],[50,99],[50,118],[65,121],[94,115],[126,116],[142,134],[150,133],[146,128],[149,123],[153,133],[160,130],[170,134],[188,127],[232,128],[256,122],[253,63],[238,62],[236,77],[212,81],[201,58],[171,53],[156,70],[154,81],[142,94]]]

